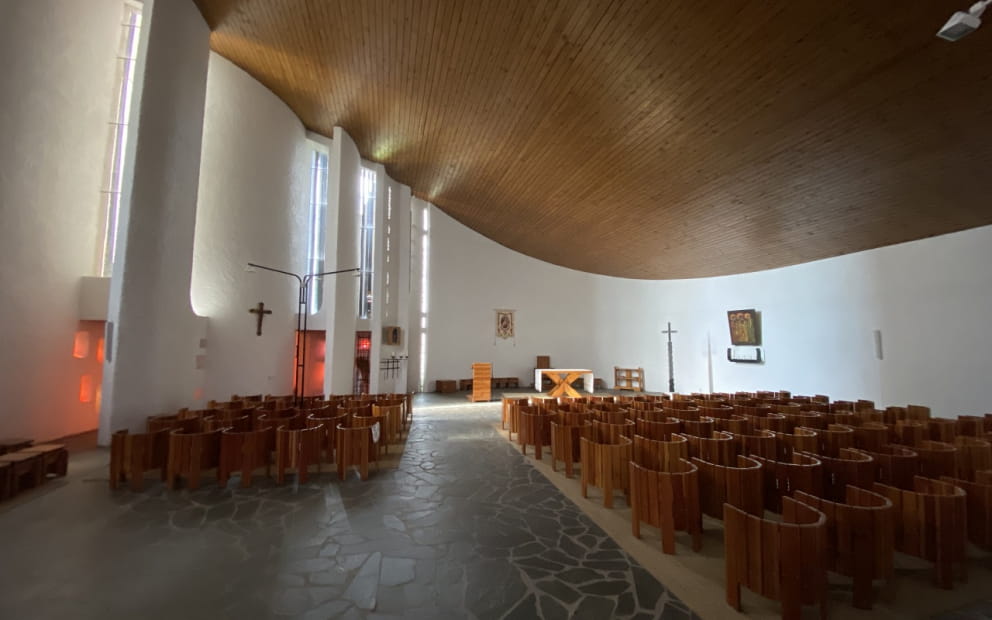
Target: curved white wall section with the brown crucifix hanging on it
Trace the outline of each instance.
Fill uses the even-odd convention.
[[[205,397],[293,390],[298,284],[246,273],[250,262],[301,273],[312,150],[270,90],[210,54],[191,299],[209,317]],[[258,302],[272,310],[255,334]]]

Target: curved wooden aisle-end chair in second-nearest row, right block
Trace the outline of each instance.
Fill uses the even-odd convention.
[[[642,438],[635,437],[635,444],[638,439]],[[641,521],[644,521],[660,530],[661,549],[665,553],[675,553],[676,530],[689,533],[693,551],[702,547],[699,470],[689,461],[669,459],[650,450],[638,453],[635,448],[630,461],[630,508],[631,531],[635,537],[641,537]]]

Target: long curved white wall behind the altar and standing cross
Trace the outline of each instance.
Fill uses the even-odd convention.
[[[752,274],[698,280],[610,278],[544,263],[431,209],[427,386],[470,376],[533,381],[535,356],[592,367],[643,366],[665,391],[661,330],[671,321],[676,390],[789,389],[936,415],[992,408],[992,227]],[[517,310],[515,342],[497,340],[494,309]],[[726,311],[762,313],[762,365],[727,361]],[[883,336],[875,358],[873,331]]]

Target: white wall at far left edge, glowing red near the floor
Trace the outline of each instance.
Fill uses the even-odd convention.
[[[79,279],[97,271],[122,5],[2,0],[0,15],[0,435],[46,440],[97,425],[72,342]]]

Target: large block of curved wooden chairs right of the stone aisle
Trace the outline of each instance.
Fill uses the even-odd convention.
[[[504,399],[503,423],[525,453],[532,445],[540,458],[549,445],[566,476],[579,463],[583,496],[600,487],[612,506],[622,491],[634,535],[642,521],[657,527],[666,553],[676,531],[699,549],[703,514],[723,519],[727,600],[738,609],[745,585],[781,601],[784,617],[812,603],[825,613],[827,570],[850,577],[854,605],[871,608],[894,550],[933,562],[935,582],[950,588],[955,571],[966,576],[968,541],[992,548],[992,415],[948,423],[921,407],[880,414],[870,401],[811,399],[800,404],[826,410],[793,411],[791,401],[708,400]]]

